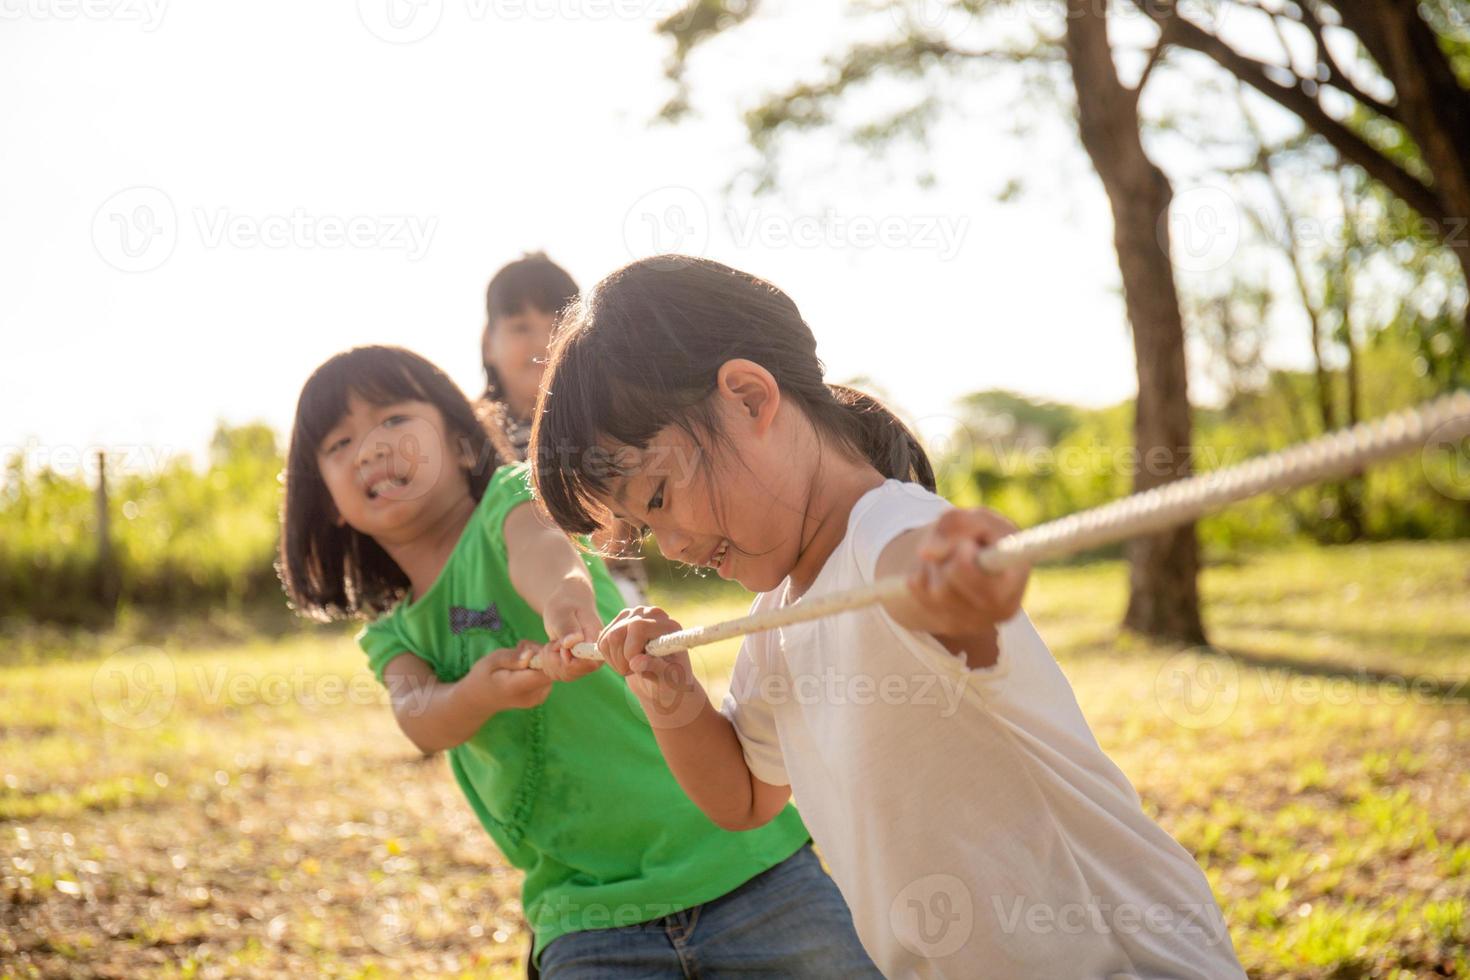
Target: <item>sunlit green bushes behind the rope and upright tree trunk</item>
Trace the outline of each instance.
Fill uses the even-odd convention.
[[[1320,435],[1314,422],[1316,379],[1307,373],[1272,372],[1267,383],[1238,397],[1222,410],[1195,411],[1194,467],[1197,472],[1233,466]],[[1432,398],[1442,386],[1411,341],[1380,335],[1363,353],[1363,404],[1369,417]],[[979,392],[969,406],[989,411],[967,419],[970,439],[964,451],[938,464],[941,492],[961,504],[992,507],[1022,526],[1055,520],[1097,507],[1132,491],[1138,467],[1133,445],[1133,406],[1101,410],[1030,403],[1010,392]],[[998,414],[1014,411],[1011,426]],[[1036,419],[1064,420],[1041,442],[1000,438],[1023,428],[1048,432]],[[958,458],[963,457],[963,458]],[[1448,467],[1448,460],[1413,455],[1367,472],[1354,480],[1370,539],[1451,539],[1470,536],[1470,504],[1435,489],[1426,469]],[[1448,479],[1448,475],[1446,475]],[[1439,480],[1439,485],[1448,485]],[[1344,541],[1344,530],[1329,519],[1338,507],[1336,486],[1314,486],[1280,498],[1247,501],[1200,522],[1208,555],[1226,557],[1241,550],[1279,547],[1292,541]],[[1116,552],[1117,550],[1111,550]]]

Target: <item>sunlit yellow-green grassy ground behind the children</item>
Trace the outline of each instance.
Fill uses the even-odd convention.
[[[1122,641],[1120,566],[1036,576],[1032,619],[1252,976],[1470,976],[1467,569],[1470,544],[1213,567],[1216,651]],[[692,585],[685,623],[747,605]],[[171,636],[6,652],[0,976],[517,976],[519,874],[348,636]],[[735,646],[701,657],[716,686]]]

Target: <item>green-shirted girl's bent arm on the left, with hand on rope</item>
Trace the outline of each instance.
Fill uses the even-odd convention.
[[[497,711],[545,701],[551,679],[528,667],[537,646],[522,641],[487,654],[451,683],[440,680],[422,658],[400,654],[382,670],[392,717],[425,754],[462,745]]]

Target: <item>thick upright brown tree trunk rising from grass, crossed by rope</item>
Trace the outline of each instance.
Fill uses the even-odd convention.
[[[1191,472],[1183,317],[1169,257],[1173,191],[1144,153],[1136,96],[1119,81],[1108,47],[1105,4],[1067,0],[1066,50],[1082,145],[1113,209],[1113,244],[1138,366],[1133,489],[1147,491]],[[1123,626],[1157,639],[1202,644],[1194,525],[1138,538],[1127,554]]]

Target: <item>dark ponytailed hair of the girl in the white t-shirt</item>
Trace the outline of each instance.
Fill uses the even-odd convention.
[[[610,472],[598,436],[645,450],[673,425],[697,445],[725,442],[710,395],[720,364],[744,357],[785,398],[886,478],[935,489],[929,457],[879,400],[822,379],[816,338],[785,292],[709,259],[656,256],[598,282],[562,314],[531,430],[541,507],[563,530],[610,517],[597,495]],[[589,453],[588,450],[594,450]]]

